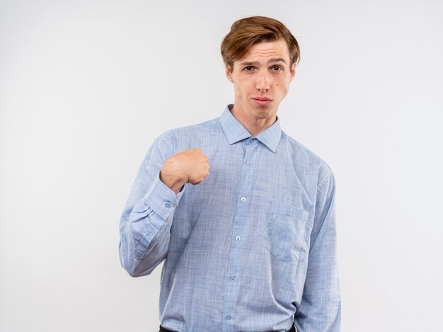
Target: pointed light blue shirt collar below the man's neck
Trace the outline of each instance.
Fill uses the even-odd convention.
[[[228,105],[220,117],[220,123],[229,144],[234,144],[251,137],[248,130],[232,115],[231,109],[233,106],[234,105]],[[280,120],[277,117],[277,120],[270,127],[260,132],[255,138],[265,144],[272,152],[275,152],[281,136],[282,128],[280,127]]]

